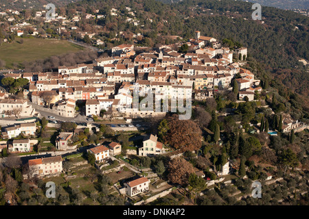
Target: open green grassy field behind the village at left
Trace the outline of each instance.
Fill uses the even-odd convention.
[[[20,40],[23,39],[23,43]],[[4,60],[7,68],[24,61],[45,59],[52,55],[61,55],[80,51],[83,48],[66,40],[48,40],[41,38],[16,38],[15,42],[3,43],[0,46],[0,60]]]

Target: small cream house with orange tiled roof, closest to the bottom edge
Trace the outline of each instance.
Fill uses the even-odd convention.
[[[139,177],[138,179],[124,183],[124,188],[126,188],[126,194],[128,196],[136,196],[149,190],[149,180],[146,177]]]

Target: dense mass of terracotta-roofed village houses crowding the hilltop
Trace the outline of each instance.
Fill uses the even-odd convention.
[[[236,74],[240,74],[236,79],[240,100],[244,96],[253,100],[255,91],[262,90],[253,73],[233,62],[233,52],[220,47],[215,38],[196,31],[196,38],[187,44],[195,49],[194,53],[178,53],[165,45],[159,51],[135,54],[134,45],[121,44],[112,48],[111,57],[100,57],[92,64],[59,66],[58,72],[11,73],[5,77],[29,79],[32,103],[48,105],[56,114],[71,118],[76,116],[76,101],[85,103],[85,116],[100,116],[102,110],[130,118],[165,114],[155,109],[141,112],[133,107],[133,92],[137,90],[139,96],[151,92],[162,99],[185,99],[186,95],[203,90],[208,98],[218,89],[229,89]],[[247,49],[240,48],[238,53],[246,56]]]

